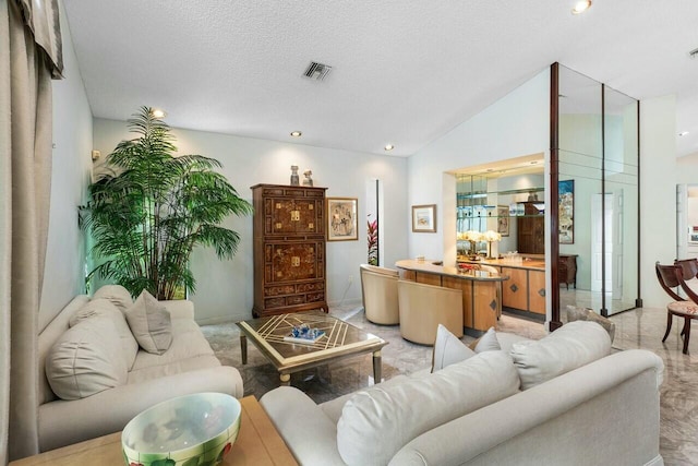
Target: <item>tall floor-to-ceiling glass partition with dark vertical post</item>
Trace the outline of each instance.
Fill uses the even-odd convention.
[[[557,63],[551,76],[552,320],[567,304],[603,315],[641,306],[639,104]],[[559,287],[570,256],[574,287]]]

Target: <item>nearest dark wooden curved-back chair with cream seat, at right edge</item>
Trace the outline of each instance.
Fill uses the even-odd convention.
[[[674,315],[684,319],[684,328],[681,331],[681,336],[684,337],[684,355],[688,353],[688,340],[690,339],[690,321],[698,318],[698,295],[690,289],[684,279],[684,268],[679,264],[662,265],[659,262],[654,264],[657,272],[657,278],[659,284],[666,291],[666,294],[675,299],[675,301],[666,304],[666,332],[662,343],[666,340],[669,333],[672,330],[672,323]],[[675,290],[682,288],[686,294],[686,298],[681,297]]]

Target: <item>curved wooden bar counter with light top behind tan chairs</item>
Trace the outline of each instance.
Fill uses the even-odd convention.
[[[509,277],[497,272],[435,265],[432,261],[402,260],[395,266],[400,278],[426,285],[462,290],[464,332],[480,336],[496,326],[502,312],[502,282]]]

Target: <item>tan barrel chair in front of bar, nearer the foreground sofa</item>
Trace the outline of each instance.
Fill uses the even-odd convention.
[[[402,338],[433,345],[438,324],[454,335],[462,336],[461,290],[398,280],[397,294]]]

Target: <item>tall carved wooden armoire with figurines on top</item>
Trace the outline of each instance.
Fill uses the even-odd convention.
[[[328,311],[325,283],[325,190],[256,184],[254,306],[257,316]]]

